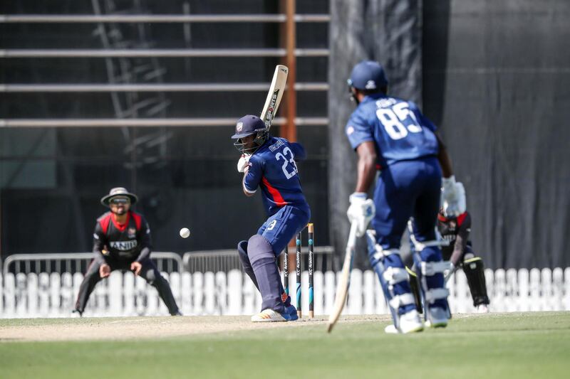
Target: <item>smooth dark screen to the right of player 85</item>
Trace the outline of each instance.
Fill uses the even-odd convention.
[[[570,3],[425,1],[423,104],[487,267],[568,267]]]

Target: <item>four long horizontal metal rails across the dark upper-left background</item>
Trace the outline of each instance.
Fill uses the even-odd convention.
[[[96,12],[99,13],[99,12]],[[287,8],[286,14],[0,14],[0,23],[286,23],[288,30],[294,23],[328,23],[328,14],[295,14]],[[294,27],[294,23],[292,24]],[[103,29],[102,29],[103,30]],[[222,57],[328,57],[328,48],[8,48],[0,49],[1,58],[222,58]],[[294,80],[294,78],[293,78]],[[77,84],[6,84],[0,83],[0,92],[217,92],[265,91],[264,83],[77,83]],[[296,83],[292,90],[326,91],[326,82]],[[326,117],[296,117],[295,114],[278,118],[274,124],[323,126]],[[0,127],[201,127],[233,125],[236,118],[155,118],[155,119],[0,119]]]

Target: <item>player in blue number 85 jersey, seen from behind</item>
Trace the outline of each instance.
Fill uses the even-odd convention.
[[[368,257],[380,279],[393,316],[388,333],[423,330],[423,322],[410,292],[400,257],[400,239],[413,217],[416,253],[414,262],[425,299],[426,326],[445,327],[449,318],[448,290],[443,272],[441,242],[435,225],[440,198],[448,214],[465,209],[465,193],[452,175],[450,158],[436,127],[413,103],[387,95],[383,67],[373,61],[358,63],[348,80],[358,107],[346,124],[346,136],[358,154],[358,179],[350,196],[347,215],[358,224],[357,235],[366,233]],[[367,192],[375,180],[374,199]],[[366,231],[372,221],[373,230]]]

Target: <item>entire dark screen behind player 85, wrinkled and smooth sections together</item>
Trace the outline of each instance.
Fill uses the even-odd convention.
[[[398,25],[383,27],[378,4]],[[353,110],[344,80],[353,63],[374,58],[387,65],[390,93],[423,104],[440,127],[467,190],[475,251],[487,267],[569,266],[570,3],[424,1],[423,9],[415,2],[378,4],[331,1],[329,204],[338,254],[348,235],[345,213],[356,180],[356,156],[343,134]],[[420,30],[410,28],[411,16],[408,22],[395,16],[402,9],[403,15],[423,11]],[[369,20],[377,26],[368,26]],[[418,36],[422,43],[409,50],[395,36]],[[414,53],[416,60],[406,58]],[[420,62],[422,70],[416,70],[413,63]],[[395,86],[395,78],[404,87]]]

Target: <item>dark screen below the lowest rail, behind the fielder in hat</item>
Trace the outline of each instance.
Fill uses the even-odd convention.
[[[279,127],[271,129],[279,135]],[[100,198],[136,193],[157,251],[229,249],[266,220],[260,195],[246,198],[233,127],[0,129],[3,255],[90,251]],[[325,127],[299,128],[311,146],[299,162],[316,244],[328,244]],[[152,137],[152,139],[151,139]],[[136,142],[136,149],[133,146]],[[160,142],[160,143],[155,143]],[[28,154],[30,146],[36,146]],[[6,155],[2,155],[6,154]],[[258,191],[259,192],[259,191]],[[178,231],[190,228],[191,237]],[[33,231],[31,231],[33,230]],[[33,235],[33,237],[30,237]]]

